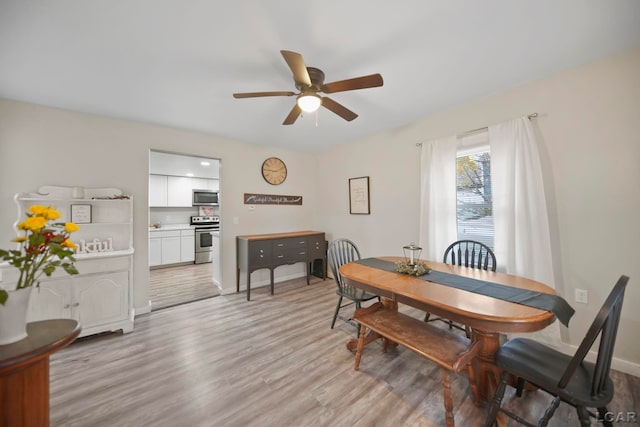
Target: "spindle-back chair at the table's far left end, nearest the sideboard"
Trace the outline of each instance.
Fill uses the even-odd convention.
[[[327,258],[329,260],[329,266],[331,267],[331,273],[333,275],[333,279],[336,282],[336,286],[338,289],[336,290],[336,294],[338,294],[338,304],[336,305],[336,310],[333,314],[333,320],[331,321],[331,329],[336,324],[336,319],[340,317],[342,320],[346,322],[351,322],[351,316],[348,318],[339,316],[340,309],[347,307],[349,305],[355,304],[356,308],[362,307],[362,302],[369,301],[377,298],[378,301],[380,297],[378,295],[370,294],[368,292],[359,290],[350,286],[342,280],[340,276],[339,268],[340,266],[356,261],[360,259],[360,251],[355,243],[353,243],[349,239],[336,239],[329,244],[329,249],[327,250]],[[342,300],[346,298],[349,300],[348,303],[342,304]],[[357,324],[358,334],[360,334],[360,324]]]

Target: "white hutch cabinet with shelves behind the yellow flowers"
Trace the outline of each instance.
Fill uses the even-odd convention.
[[[55,206],[62,214],[60,222],[78,221],[71,217],[72,209],[84,215],[78,221],[80,230],[71,235],[78,245],[79,274],[71,276],[58,268],[51,277],[42,276],[39,288],[32,291],[27,320],[75,319],[82,326],[80,336],[132,331],[133,200],[113,188],[41,187],[38,193],[17,194],[15,201],[19,221],[31,205]]]

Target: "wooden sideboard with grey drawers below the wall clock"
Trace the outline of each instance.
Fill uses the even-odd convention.
[[[322,260],[326,271],[327,248],[321,231],[296,231],[291,233],[254,234],[236,237],[236,292],[240,292],[240,272],[247,273],[247,301],[251,295],[251,273],[268,268],[271,275],[273,295],[273,270],[285,264],[305,262],[307,285],[311,263]],[[326,279],[326,276],[323,277]]]

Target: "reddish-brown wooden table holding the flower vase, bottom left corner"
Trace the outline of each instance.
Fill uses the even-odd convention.
[[[0,345],[0,426],[49,425],[49,356],[80,334],[71,319],[27,324],[27,338]]]

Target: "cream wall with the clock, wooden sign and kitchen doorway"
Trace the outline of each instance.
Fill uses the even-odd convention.
[[[134,301],[148,311],[149,150],[221,159],[222,291],[235,292],[235,236],[315,229],[315,157],[244,144],[210,135],[125,120],[80,114],[0,99],[0,247],[11,247],[17,210],[13,194],[42,185],[117,187],[134,198]],[[260,172],[270,156],[287,164],[287,180],[277,187]],[[249,211],[243,194],[303,196],[302,206],[257,206]],[[234,224],[234,218],[238,224]],[[300,275],[304,265],[283,266],[276,277]],[[252,276],[268,279],[268,271]],[[244,288],[244,277],[241,283]]]

